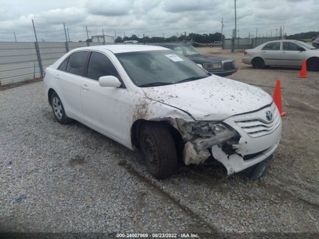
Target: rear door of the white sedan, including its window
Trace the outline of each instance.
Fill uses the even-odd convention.
[[[84,119],[81,103],[80,85],[84,75],[88,51],[79,51],[70,55],[58,67],[55,80],[58,81],[59,95],[67,116]]]

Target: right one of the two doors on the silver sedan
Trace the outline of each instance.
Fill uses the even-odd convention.
[[[283,42],[281,51],[281,66],[302,66],[305,58],[305,51],[299,50],[300,46],[292,42]]]

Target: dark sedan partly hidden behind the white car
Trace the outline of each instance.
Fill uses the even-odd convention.
[[[217,76],[229,76],[238,70],[234,60],[219,56],[205,56],[196,48],[187,44],[160,44],[160,46],[186,56],[196,64],[201,64],[206,71]]]

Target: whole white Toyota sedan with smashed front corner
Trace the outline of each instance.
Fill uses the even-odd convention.
[[[78,48],[46,68],[55,119],[75,119],[134,150],[150,173],[170,176],[180,158],[219,162],[257,179],[279,144],[282,123],[260,88],[212,75],[159,46]]]

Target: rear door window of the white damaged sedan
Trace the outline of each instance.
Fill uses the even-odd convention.
[[[69,57],[66,72],[84,76],[84,68],[88,51],[75,52]]]

